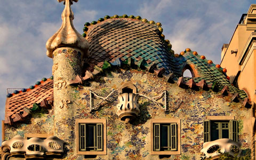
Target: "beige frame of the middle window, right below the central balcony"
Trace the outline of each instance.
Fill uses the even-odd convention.
[[[176,123],[177,124],[177,150],[167,150],[167,151],[155,151],[154,150],[154,124],[159,123],[159,124],[172,124]],[[180,119],[178,118],[169,118],[169,119],[151,119],[150,121],[150,134],[151,134],[151,149],[150,149],[150,154],[151,155],[180,155],[181,154],[181,137],[180,137]]]

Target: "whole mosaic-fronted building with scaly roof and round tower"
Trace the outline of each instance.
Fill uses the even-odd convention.
[[[7,94],[2,159],[254,159],[253,100],[223,66],[174,54],[161,23],[139,16],[106,15],[82,36],[72,3],[46,43],[53,76]]]

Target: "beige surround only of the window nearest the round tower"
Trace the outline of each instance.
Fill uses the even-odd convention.
[[[102,151],[79,151],[79,124],[102,123],[103,150]],[[77,155],[107,155],[107,119],[76,119],[76,154]]]

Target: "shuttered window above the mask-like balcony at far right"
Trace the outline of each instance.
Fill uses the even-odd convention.
[[[217,116],[215,116],[217,117]],[[234,119],[208,119],[204,121],[204,142],[228,138],[238,141],[238,123]]]

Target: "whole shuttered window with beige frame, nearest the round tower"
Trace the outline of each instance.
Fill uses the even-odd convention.
[[[77,155],[106,155],[106,119],[76,120]]]

